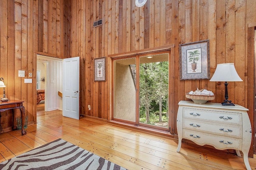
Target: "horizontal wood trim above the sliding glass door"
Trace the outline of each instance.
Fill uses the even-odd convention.
[[[112,54],[112,55],[108,55],[108,57],[117,58],[117,57],[128,57],[128,56],[132,56],[132,55],[142,55],[142,54],[147,54],[147,53],[167,51],[167,50],[170,50],[172,47],[174,47],[174,44],[164,45],[162,47],[156,47],[156,48],[150,48],[150,49],[130,51],[130,52],[126,52],[126,53]]]

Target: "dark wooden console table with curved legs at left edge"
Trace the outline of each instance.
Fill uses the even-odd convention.
[[[25,122],[25,107],[23,106],[24,101],[20,100],[10,100],[8,102],[0,102],[0,112],[9,110],[9,109],[20,109],[21,114],[21,134],[26,135],[26,131],[24,130],[24,122]],[[17,129],[17,126],[15,125],[15,112],[13,111],[13,127],[12,129]]]

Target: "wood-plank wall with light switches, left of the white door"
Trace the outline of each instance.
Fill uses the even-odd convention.
[[[36,53],[70,57],[70,51],[64,51],[70,42],[63,41],[70,37],[68,26],[64,30],[64,22],[70,20],[70,1],[67,2],[0,0],[0,77],[4,78],[7,98],[24,101],[30,123],[36,121]],[[33,83],[25,84],[24,78],[18,77],[18,70],[25,70],[24,78],[30,78],[28,73],[32,72]],[[2,94],[1,88],[1,97]],[[8,130],[12,127],[12,111],[1,115],[1,125]]]

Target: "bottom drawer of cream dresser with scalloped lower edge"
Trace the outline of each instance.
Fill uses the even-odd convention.
[[[183,138],[194,141],[198,145],[212,145],[216,149],[236,149],[242,150],[242,139],[224,137],[203,133],[198,131],[183,130]]]

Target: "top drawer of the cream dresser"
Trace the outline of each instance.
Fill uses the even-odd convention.
[[[242,126],[242,113],[183,108],[183,118]]]

